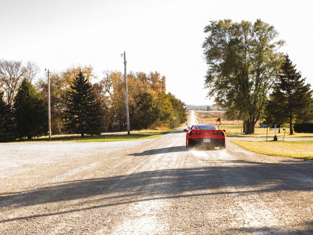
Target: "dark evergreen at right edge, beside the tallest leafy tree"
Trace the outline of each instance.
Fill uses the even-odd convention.
[[[308,121],[312,117],[312,91],[310,84],[305,84],[301,72],[296,71],[288,55],[281,66],[279,80],[275,84],[268,102],[268,119],[276,123],[289,123],[290,134],[293,134],[292,124]]]

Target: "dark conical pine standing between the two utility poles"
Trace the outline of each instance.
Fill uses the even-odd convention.
[[[80,71],[74,78],[67,99],[67,110],[65,110],[66,130],[68,133],[100,134],[100,105],[92,86]]]

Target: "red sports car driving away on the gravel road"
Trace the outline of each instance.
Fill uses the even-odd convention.
[[[189,130],[188,130],[189,129]],[[225,130],[220,130],[216,125],[196,124],[184,129],[186,131],[186,147],[196,144],[208,147],[226,148]]]

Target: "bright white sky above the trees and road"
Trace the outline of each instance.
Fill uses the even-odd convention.
[[[158,71],[186,104],[210,104],[203,89],[203,28],[212,20],[257,18],[280,32],[283,48],[313,84],[309,0],[0,0],[0,58],[42,69],[91,65],[102,71]]]

